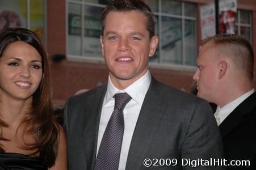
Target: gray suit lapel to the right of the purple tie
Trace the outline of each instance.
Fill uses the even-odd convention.
[[[143,162],[150,141],[161,120],[166,101],[159,98],[156,92],[157,82],[152,78],[149,90],[145,96],[133,133],[125,169],[139,169]]]

